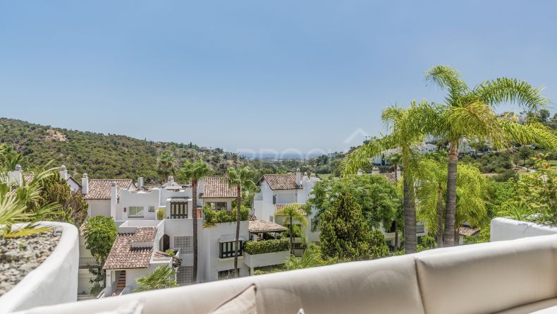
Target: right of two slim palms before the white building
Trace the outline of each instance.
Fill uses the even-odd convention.
[[[227,170],[226,181],[228,186],[236,188],[236,240],[234,253],[234,277],[238,277],[238,248],[240,247],[240,217],[242,216],[242,191],[243,188],[255,188],[255,182],[252,180],[253,171],[250,167],[235,169],[230,167]]]

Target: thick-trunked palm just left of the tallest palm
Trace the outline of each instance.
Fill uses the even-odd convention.
[[[417,153],[413,147],[424,140],[427,128],[439,116],[436,108],[426,101],[412,102],[407,109],[389,107],[383,111],[382,119],[390,133],[383,138],[369,140],[350,152],[343,160],[344,174],[354,174],[369,163],[369,158],[385,150],[398,147],[400,163],[403,165],[404,248],[406,253],[415,253],[416,211],[413,172],[417,167]]]

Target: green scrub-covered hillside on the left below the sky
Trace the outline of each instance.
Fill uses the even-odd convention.
[[[173,152],[177,164],[185,159],[202,158],[211,164],[216,174],[224,174],[230,166],[250,164],[250,161],[219,148],[152,142],[6,118],[0,118],[0,143],[11,144],[21,152],[27,162],[24,166],[41,166],[54,160],[55,166],[65,164],[76,178],[85,172],[91,178],[135,179],[143,176],[146,181],[157,181],[157,157],[164,151]]]

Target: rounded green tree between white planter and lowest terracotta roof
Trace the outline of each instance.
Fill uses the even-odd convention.
[[[91,255],[99,262],[99,269],[90,269],[94,275],[92,284],[104,282],[106,278],[102,267],[109,256],[114,240],[116,240],[116,224],[112,217],[97,216],[87,219],[85,222],[85,248],[91,251]]]

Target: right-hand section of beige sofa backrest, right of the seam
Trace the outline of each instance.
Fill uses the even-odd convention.
[[[557,296],[557,237],[415,255],[426,313],[493,313]]]

